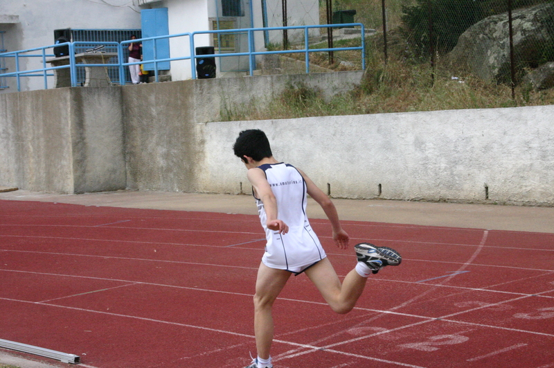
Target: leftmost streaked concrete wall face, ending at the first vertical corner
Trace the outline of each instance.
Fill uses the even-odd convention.
[[[66,89],[0,95],[0,182],[73,193],[70,100]]]

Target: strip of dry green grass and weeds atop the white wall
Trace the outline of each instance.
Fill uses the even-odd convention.
[[[452,77],[456,78],[453,79]],[[535,92],[518,87],[516,98],[508,85],[486,83],[472,76],[436,73],[431,85],[427,65],[401,61],[368,67],[362,84],[347,94],[323,98],[322,91],[289,85],[264,107],[235,106],[225,119],[264,120],[306,116],[377,114],[447,109],[482,109],[554,104],[554,90]]]

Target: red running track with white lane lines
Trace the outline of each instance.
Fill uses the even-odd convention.
[[[82,367],[237,368],[255,353],[256,216],[0,200],[0,339]],[[554,234],[346,221],[403,256],[335,315],[276,302],[276,368],[554,367]],[[339,276],[355,256],[312,220]]]

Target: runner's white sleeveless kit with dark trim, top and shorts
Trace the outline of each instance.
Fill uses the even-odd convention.
[[[325,251],[307,219],[304,178],[289,164],[265,164],[258,168],[264,170],[277,200],[277,218],[289,227],[289,232],[284,235],[267,229],[264,205],[260,199],[254,197],[267,239],[262,262],[269,268],[298,274],[325,258]]]

